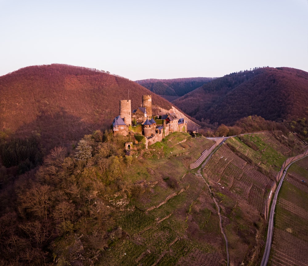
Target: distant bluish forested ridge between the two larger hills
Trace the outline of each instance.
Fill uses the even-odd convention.
[[[209,82],[213,78],[180,78],[169,80],[136,80],[136,83],[148,88],[151,92],[154,92],[161,96],[183,96],[188,92],[193,91],[196,88],[201,87],[203,84]]]

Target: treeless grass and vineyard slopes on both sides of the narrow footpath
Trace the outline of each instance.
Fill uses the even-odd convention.
[[[180,139],[180,135],[170,136],[163,143],[151,146],[144,155],[146,161],[131,167],[131,172],[152,185],[140,200],[128,207],[135,206],[138,211],[121,215],[119,223],[129,237],[114,243],[106,256],[108,265],[224,265],[226,255],[216,207],[203,181],[193,174],[194,171],[186,170],[188,163],[213,143],[204,138],[189,138],[175,145]],[[266,189],[270,188],[274,174],[285,158],[269,146],[272,142],[273,146],[280,147],[269,133],[249,135],[247,140],[256,143],[260,150],[250,149],[243,143],[237,147],[253,161],[252,164],[247,164],[224,145],[203,171],[220,203],[230,261],[235,265],[242,261],[257,265],[264,234],[261,212],[263,201],[268,196]],[[234,141],[238,142],[230,140],[231,143]],[[229,159],[223,161],[221,156]],[[258,158],[263,162],[259,168]],[[260,167],[269,176],[262,174]],[[245,178],[239,178],[241,174]],[[168,186],[171,178],[175,179],[173,187]],[[219,178],[223,180],[224,188],[217,184]],[[254,190],[245,195],[237,190],[245,187],[242,180],[247,183],[247,188],[252,186]],[[264,192],[260,193],[262,190]],[[165,204],[149,210],[172,194],[176,195]],[[146,210],[149,211],[144,212]]]

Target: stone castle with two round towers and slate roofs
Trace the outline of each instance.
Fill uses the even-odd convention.
[[[154,119],[156,118],[156,120]],[[142,96],[142,106],[131,108],[131,100],[120,100],[120,115],[112,123],[114,135],[128,135],[130,127],[142,125],[141,134],[145,137],[145,146],[152,145],[172,132],[187,132],[185,118],[176,117],[175,113],[161,116],[152,115],[152,95]]]

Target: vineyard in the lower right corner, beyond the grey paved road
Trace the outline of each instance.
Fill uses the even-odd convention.
[[[268,265],[308,265],[307,168],[308,158],[304,158],[289,168],[284,179],[275,209],[275,230]]]

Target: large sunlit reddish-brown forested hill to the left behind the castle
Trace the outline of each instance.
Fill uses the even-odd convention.
[[[143,94],[152,94],[154,106],[171,107],[141,85],[103,71],[61,64],[19,69],[0,77],[0,137],[34,134],[47,149],[76,143],[110,128],[128,90],[132,108],[141,106]]]

